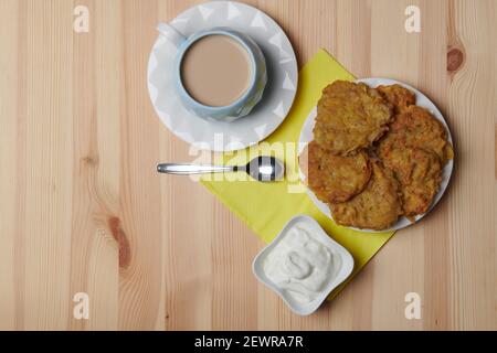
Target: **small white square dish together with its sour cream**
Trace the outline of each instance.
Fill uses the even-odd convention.
[[[297,215],[257,254],[252,268],[292,311],[308,315],[350,276],[353,257],[316,220]]]

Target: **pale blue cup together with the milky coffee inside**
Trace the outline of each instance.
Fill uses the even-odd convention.
[[[248,35],[220,26],[187,38],[167,23],[157,28],[177,49],[172,75],[184,108],[208,120],[233,121],[261,101],[266,62]]]

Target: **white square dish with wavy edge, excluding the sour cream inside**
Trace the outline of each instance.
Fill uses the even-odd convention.
[[[310,302],[302,302],[296,300],[288,292],[288,290],[279,288],[275,282],[273,282],[264,271],[264,261],[266,260],[268,254],[271,254],[275,246],[279,242],[282,242],[289,229],[300,223],[305,223],[309,228],[313,229],[313,237],[315,240],[318,240],[319,243],[325,245],[332,253],[332,256],[339,256],[340,258],[340,268],[337,269],[337,271],[334,274],[335,276],[324,285],[319,295]],[[308,315],[315,312],[325,301],[328,295],[350,276],[353,270],[353,257],[343,246],[329,237],[313,217],[309,217],[307,215],[297,215],[290,218],[279,232],[279,234],[273,239],[273,242],[271,242],[257,254],[252,264],[252,269],[255,277],[266,287],[275,291],[283,299],[283,301],[285,301],[285,303],[292,311],[299,315]]]

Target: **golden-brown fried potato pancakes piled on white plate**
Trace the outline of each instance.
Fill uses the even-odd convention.
[[[453,149],[444,126],[415,103],[400,85],[336,81],[322,90],[299,164],[336,223],[381,231],[429,210]]]

